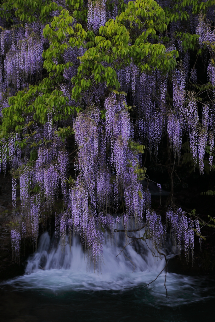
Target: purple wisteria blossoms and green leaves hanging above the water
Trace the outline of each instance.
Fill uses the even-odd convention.
[[[0,152],[18,212],[15,258],[26,220],[36,245],[52,214],[61,241],[75,232],[94,263],[120,221],[125,232],[146,222],[159,251],[166,225],[142,185],[143,154],[156,156],[166,137],[175,162],[186,141],[193,167],[214,167],[215,1],[0,3]],[[174,245],[188,257],[199,220],[169,205]]]

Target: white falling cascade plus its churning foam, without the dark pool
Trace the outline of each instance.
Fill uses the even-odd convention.
[[[161,272],[165,260],[153,257],[144,242],[132,243],[118,255],[125,242],[122,236],[123,234],[118,246],[109,242],[104,245],[102,271],[94,273],[93,265],[88,267],[87,271],[86,257],[75,237],[71,251],[67,244],[62,252],[60,243],[57,245],[54,238],[50,240],[49,234],[45,232],[40,238],[37,252],[28,260],[25,274],[8,280],[6,284],[21,290],[46,289],[55,293],[70,290],[119,292],[134,289],[145,294],[143,301],[171,306],[208,297],[206,287],[201,287],[202,279],[167,273],[169,300],[166,299],[165,271],[153,283],[142,289]],[[170,254],[167,257],[171,256]]]

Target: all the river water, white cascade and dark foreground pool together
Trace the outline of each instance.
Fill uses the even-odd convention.
[[[164,259],[155,258],[148,246],[128,245],[121,255],[118,244],[104,245],[103,263],[95,271],[87,265],[80,243],[66,245],[40,239],[29,258],[25,274],[0,285],[0,320],[13,322],[55,321],[167,321],[214,319],[215,281],[164,271]],[[166,250],[172,255],[171,245]],[[118,255],[118,256],[117,256]],[[117,257],[116,257],[117,256]]]

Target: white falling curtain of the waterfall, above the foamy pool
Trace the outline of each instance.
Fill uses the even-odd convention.
[[[99,274],[121,274],[132,272],[160,272],[165,266],[165,260],[154,257],[145,242],[133,242],[121,252],[125,245],[125,237],[120,233],[118,242],[106,242],[103,249],[103,261],[98,267]],[[118,256],[117,256],[118,255]],[[117,256],[117,257],[116,257]],[[73,237],[72,245],[67,241],[65,249],[62,250],[61,242],[56,245],[55,238],[52,240],[48,232],[45,232],[39,241],[38,251],[29,258],[26,274],[38,270],[64,269],[73,272],[94,273],[93,263],[88,262],[82,250],[81,244],[76,237]],[[101,270],[101,271],[100,271]]]

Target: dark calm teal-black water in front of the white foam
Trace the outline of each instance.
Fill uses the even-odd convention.
[[[176,275],[176,274],[175,274]],[[187,280],[189,277],[185,277]],[[183,285],[180,301],[177,291],[169,299],[148,287],[120,290],[59,290],[18,288],[10,284],[0,290],[1,321],[214,321],[215,282],[191,278]]]

